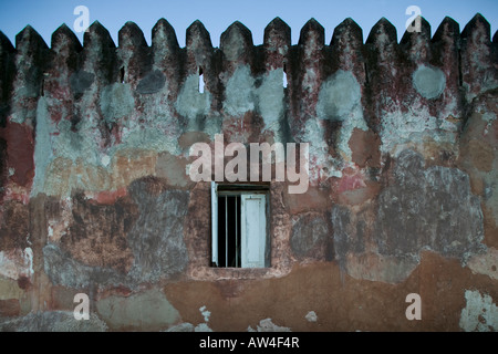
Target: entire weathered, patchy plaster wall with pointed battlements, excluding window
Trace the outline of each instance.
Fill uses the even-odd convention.
[[[0,330],[498,331],[498,34],[421,24],[0,32]],[[210,267],[188,168],[216,134],[310,143],[307,192],[270,183],[268,268]]]

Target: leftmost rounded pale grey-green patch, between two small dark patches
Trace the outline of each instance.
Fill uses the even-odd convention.
[[[129,115],[135,108],[129,84],[115,83],[104,87],[101,95],[101,110],[106,122],[114,123]]]

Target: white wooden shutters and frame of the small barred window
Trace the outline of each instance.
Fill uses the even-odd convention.
[[[236,190],[222,192],[240,195],[240,268],[267,267],[268,192],[266,190]],[[211,181],[211,264],[218,267],[218,184]],[[225,240],[227,242],[227,240]],[[227,257],[226,257],[227,258]],[[229,268],[229,267],[224,267]]]

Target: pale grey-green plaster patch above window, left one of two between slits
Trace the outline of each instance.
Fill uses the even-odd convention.
[[[231,116],[241,116],[255,110],[255,77],[249,65],[237,67],[226,86],[224,110]]]

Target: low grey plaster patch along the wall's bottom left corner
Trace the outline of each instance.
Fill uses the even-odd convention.
[[[0,332],[105,332],[107,325],[95,314],[77,321],[70,311],[31,312],[23,317],[0,322]]]

